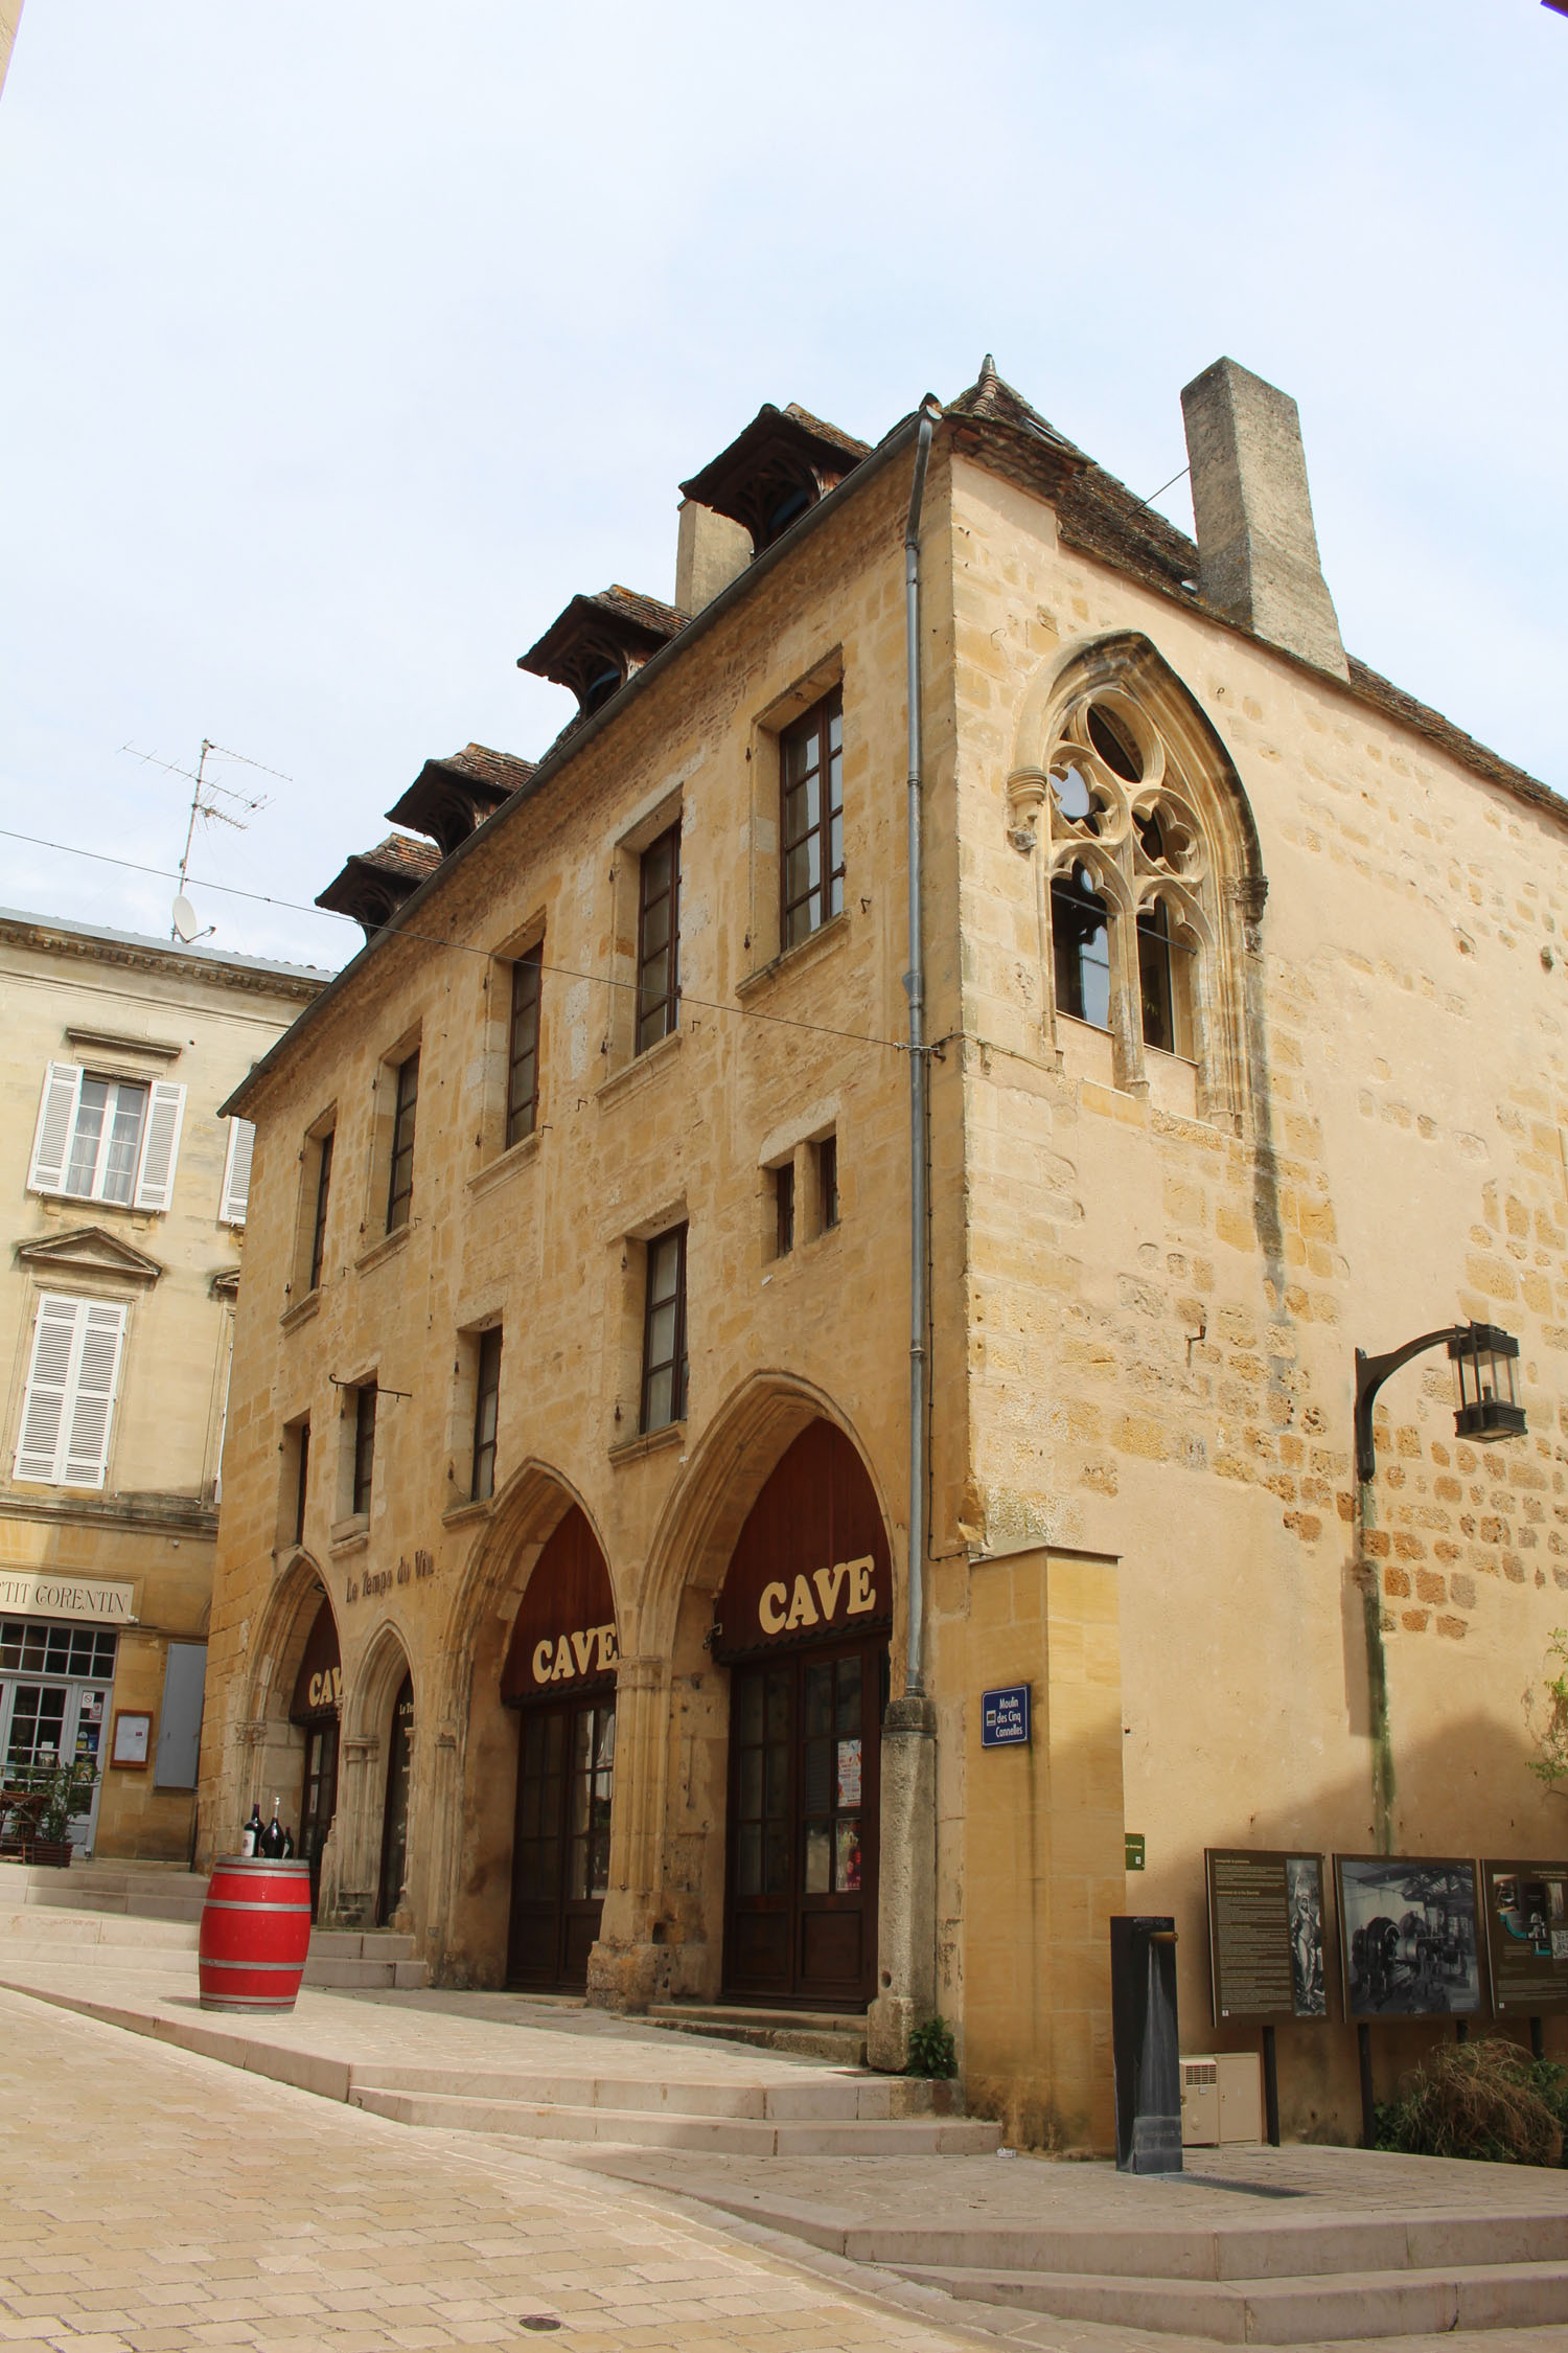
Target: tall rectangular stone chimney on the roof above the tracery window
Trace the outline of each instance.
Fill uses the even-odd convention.
[[[1199,586],[1227,619],[1349,678],[1312,529],[1295,402],[1234,360],[1182,393]]]

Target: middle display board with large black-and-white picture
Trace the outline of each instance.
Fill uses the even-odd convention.
[[[1476,1866],[1425,1854],[1335,1854],[1349,2019],[1481,2009]]]

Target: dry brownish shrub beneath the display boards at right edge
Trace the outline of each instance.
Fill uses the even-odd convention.
[[[1408,2158],[1488,2158],[1493,2165],[1561,2165],[1568,2068],[1516,2042],[1446,2042],[1401,2078],[1378,2108],[1378,2148]]]

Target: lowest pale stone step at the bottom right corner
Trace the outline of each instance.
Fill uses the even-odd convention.
[[[1088,2240],[1098,2245],[1098,2233]],[[1302,2346],[1453,2329],[1530,2329],[1568,2322],[1561,2264],[1453,2264],[1432,2271],[1319,2271],[1284,2280],[1171,2280],[1091,2271],[966,2271],[893,2264],[903,2280],[969,2304],[1206,2337],[1211,2344]]]

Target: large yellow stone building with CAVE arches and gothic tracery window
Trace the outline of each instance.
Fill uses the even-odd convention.
[[[1347,661],[1293,402],[1185,407],[1199,546],[990,362],[875,449],[764,409],[675,607],[524,656],[550,753],[430,762],[423,861],[343,868],[367,948],[228,1104],[205,1847],[280,1793],[322,1915],[449,1984],[870,2009],[882,2066],[938,2007],[1053,2146],[1107,2137],[1112,1913],[1178,1915],[1190,2049],[1255,2049],[1206,1847],[1561,1842],[1568,812]],[[1415,1365],[1363,1527],[1352,1348],[1455,1318],[1530,1433],[1455,1442]],[[1279,2047],[1349,2129],[1354,2038]]]

